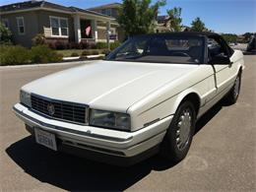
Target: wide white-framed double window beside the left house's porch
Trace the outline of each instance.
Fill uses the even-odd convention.
[[[68,19],[50,16],[50,28],[53,36],[68,36]]]

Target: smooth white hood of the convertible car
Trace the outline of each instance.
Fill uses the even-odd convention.
[[[124,112],[136,101],[198,65],[98,61],[33,81],[23,90],[39,96]]]

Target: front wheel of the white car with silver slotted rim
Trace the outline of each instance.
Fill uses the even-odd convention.
[[[161,143],[160,155],[164,159],[178,162],[186,157],[194,135],[195,123],[195,107],[191,101],[186,100],[176,110]]]

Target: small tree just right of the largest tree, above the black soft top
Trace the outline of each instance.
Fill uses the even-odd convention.
[[[180,32],[181,31],[181,8],[174,7],[173,9],[167,10],[167,14],[169,16],[170,23],[170,31],[171,32]]]

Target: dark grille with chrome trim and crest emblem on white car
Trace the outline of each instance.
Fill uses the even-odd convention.
[[[32,109],[51,118],[74,122],[86,123],[87,105],[75,102],[50,99],[44,96],[32,95]],[[49,110],[53,106],[54,112]]]

